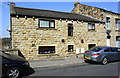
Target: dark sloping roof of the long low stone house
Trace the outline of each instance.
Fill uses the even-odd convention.
[[[23,8],[23,7],[13,7],[11,15],[26,15],[26,16],[34,16],[34,17],[36,16],[36,17],[44,17],[44,18],[68,19],[68,20],[79,20],[85,22],[103,23],[102,21],[96,18],[85,16],[82,14]]]

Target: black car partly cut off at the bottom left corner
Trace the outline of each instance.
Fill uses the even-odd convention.
[[[2,77],[5,78],[18,78],[30,67],[23,57],[5,53],[3,50],[0,50],[0,59]]]

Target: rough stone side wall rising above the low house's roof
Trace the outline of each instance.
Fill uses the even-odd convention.
[[[83,4],[80,4],[79,2],[76,2],[74,4],[74,9],[72,10],[72,13],[92,16],[100,20],[104,19],[104,14],[105,14],[103,10],[101,10],[100,8],[83,5]]]

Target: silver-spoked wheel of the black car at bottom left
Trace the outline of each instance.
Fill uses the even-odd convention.
[[[18,67],[11,67],[6,72],[8,78],[18,78],[20,75],[20,69]]]

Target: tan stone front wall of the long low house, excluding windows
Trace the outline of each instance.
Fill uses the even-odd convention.
[[[46,18],[45,18],[46,19]],[[68,36],[68,21],[55,20],[55,28],[38,28],[39,18],[12,17],[12,48],[20,49],[27,59],[46,59],[50,54],[38,54],[39,46],[55,46],[54,56],[67,56],[68,45],[88,49],[88,44],[105,46],[106,34],[104,24],[95,24],[95,31],[88,31],[87,22],[73,21],[73,36]],[[50,19],[51,20],[51,19]],[[65,42],[62,42],[62,39]],[[81,43],[81,39],[84,43]],[[35,44],[35,46],[32,46]]]

